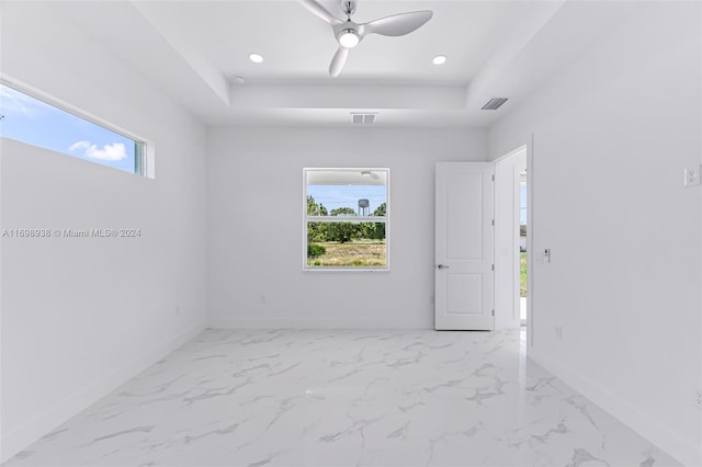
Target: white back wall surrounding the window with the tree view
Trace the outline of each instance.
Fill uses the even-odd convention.
[[[211,324],[431,328],[434,163],[486,151],[483,130],[211,129]],[[390,168],[389,272],[302,271],[305,167]]]

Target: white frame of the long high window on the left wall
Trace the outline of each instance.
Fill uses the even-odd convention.
[[[35,99],[37,101],[43,102],[46,105],[49,105],[54,109],[57,109],[61,112],[66,112],[67,114],[70,114],[72,116],[75,116],[76,118],[80,118],[84,122],[91,123],[93,125],[97,126],[101,126],[102,128],[106,129],[107,132],[112,132],[116,135],[122,136],[123,138],[129,139],[132,141],[134,141],[135,144],[135,155],[134,155],[134,172],[129,172],[126,170],[120,170],[113,167],[110,167],[105,163],[101,163],[100,161],[97,160],[87,160],[87,159],[82,159],[82,158],[77,158],[68,152],[60,152],[60,151],[56,151],[53,149],[48,149],[48,148],[44,148],[42,146],[36,146],[32,143],[27,143],[27,141],[23,141],[23,140],[19,140],[19,143],[25,144],[27,146],[32,146],[35,148],[41,148],[41,149],[45,149],[52,152],[56,152],[59,153],[61,156],[66,156],[66,157],[70,157],[73,159],[78,159],[78,160],[83,160],[86,162],[90,162],[90,163],[95,163],[98,166],[102,166],[105,167],[107,169],[112,169],[112,170],[117,170],[118,172],[123,172],[123,173],[128,173],[132,175],[137,175],[137,176],[143,176],[143,178],[148,178],[148,179],[155,179],[155,151],[154,151],[154,145],[150,141],[147,141],[145,138],[135,136],[134,134],[132,134],[131,132],[127,132],[125,129],[122,129],[106,121],[104,121],[103,118],[97,117],[93,114],[90,114],[86,111],[82,111],[80,109],[78,109],[75,105],[71,105],[65,101],[61,101],[60,99],[54,98],[52,95],[48,95],[46,92],[39,91],[35,88],[32,88],[30,86],[23,84],[18,82],[14,79],[8,79],[3,76],[0,76],[0,86],[4,86],[7,88],[10,88],[16,92],[20,92],[22,94],[25,94],[29,98]]]

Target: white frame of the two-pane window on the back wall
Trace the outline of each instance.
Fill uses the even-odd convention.
[[[341,172],[384,172],[385,216],[353,216],[352,220],[343,216],[307,216],[307,173],[310,171]],[[305,167],[303,168],[303,272],[389,272],[390,271],[390,168],[389,167]],[[385,224],[385,265],[384,266],[309,266],[307,265],[307,224],[321,223],[383,223]]]

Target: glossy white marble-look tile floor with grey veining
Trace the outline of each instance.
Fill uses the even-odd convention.
[[[208,330],[7,466],[672,466],[519,330]]]

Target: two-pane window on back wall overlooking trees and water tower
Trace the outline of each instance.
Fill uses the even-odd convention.
[[[304,269],[388,270],[389,169],[304,169]]]

